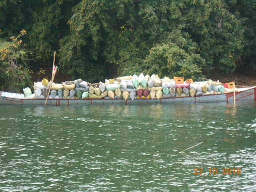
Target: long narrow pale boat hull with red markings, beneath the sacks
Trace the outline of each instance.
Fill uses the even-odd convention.
[[[236,92],[236,101],[256,100],[256,86],[249,88],[238,88]],[[47,105],[70,106],[70,105],[88,105],[88,104],[147,104],[147,103],[210,103],[210,102],[234,102],[234,93],[214,94],[196,97],[180,98],[161,98],[161,99],[48,99]],[[39,104],[44,105],[45,99],[26,99],[24,94],[1,92],[0,104]]]

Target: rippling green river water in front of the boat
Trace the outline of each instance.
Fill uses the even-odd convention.
[[[256,102],[159,106],[0,106],[0,191],[256,191]]]

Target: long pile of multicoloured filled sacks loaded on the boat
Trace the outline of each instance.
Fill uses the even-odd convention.
[[[26,98],[46,99],[50,83],[43,79],[34,83],[34,94],[29,88],[24,89]],[[160,79],[158,75],[125,76],[117,78],[110,84],[90,84],[81,79],[61,84],[52,84],[49,99],[160,99],[194,97],[233,92],[234,89],[224,88],[222,83],[212,80],[202,82],[177,82],[168,77]],[[235,91],[238,91],[235,89]]]

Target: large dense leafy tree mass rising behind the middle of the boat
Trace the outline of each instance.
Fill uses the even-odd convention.
[[[242,19],[222,0],[83,0],[69,24],[60,62],[68,74],[91,80],[113,63],[120,75],[231,72],[243,48]]]

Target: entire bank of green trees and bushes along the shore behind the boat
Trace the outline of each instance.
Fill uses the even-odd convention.
[[[0,88],[159,74],[256,84],[256,0],[3,0]]]

